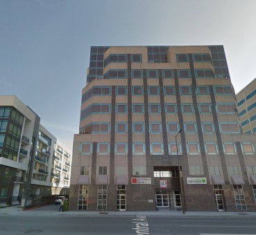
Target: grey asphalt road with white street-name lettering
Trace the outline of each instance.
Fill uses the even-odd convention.
[[[139,233],[140,232],[140,233]],[[143,233],[142,233],[143,232]],[[256,234],[255,216],[0,216],[0,234]]]

